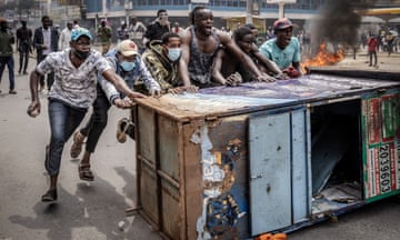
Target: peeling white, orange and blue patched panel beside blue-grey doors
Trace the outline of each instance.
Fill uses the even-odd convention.
[[[201,207],[196,229],[200,239],[248,238],[247,118],[208,121],[192,134],[191,142],[201,149],[197,163],[201,167],[202,202],[188,209]]]

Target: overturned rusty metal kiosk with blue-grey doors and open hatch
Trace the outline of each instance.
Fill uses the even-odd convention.
[[[141,213],[167,239],[248,239],[396,194],[399,108],[397,81],[323,73],[139,100]]]

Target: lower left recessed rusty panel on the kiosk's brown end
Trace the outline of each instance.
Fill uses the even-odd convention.
[[[146,216],[159,226],[159,198],[157,189],[157,174],[154,169],[144,161],[141,161],[140,169],[140,202]]]

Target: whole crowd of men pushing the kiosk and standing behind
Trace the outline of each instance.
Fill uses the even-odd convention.
[[[160,9],[148,26],[132,17],[129,24],[123,22],[118,28],[118,42],[113,48],[112,29],[102,20],[96,31],[101,44],[97,51],[92,48],[92,33],[78,22],[68,21],[59,32],[48,16],[41,18],[42,26],[34,30],[22,20],[14,38],[7,21],[0,19],[0,77],[8,66],[9,93],[17,93],[14,39],[20,53],[19,74],[28,74],[29,53],[37,52],[37,64],[29,76],[29,116],[40,113],[39,92],[48,90],[51,131],[44,167],[50,187],[42,201],[58,198],[61,156],[71,137],[71,158],[80,157],[86,142],[79,178],[94,180],[91,156],[107,127],[111,106],[129,109],[137,98],[148,96],[158,98],[164,93],[197,92],[200,88],[236,87],[251,81],[272,82],[302,74],[301,41],[293,36],[293,23],[288,18],[274,21],[268,29],[268,39],[262,42],[252,24],[239,26],[233,32],[217,29],[208,7],[196,7],[190,22],[186,29],[178,22],[171,24],[164,9]],[[90,108],[89,121],[78,129]],[[120,121],[118,140],[124,142],[126,134],[134,136],[132,131],[133,122]]]

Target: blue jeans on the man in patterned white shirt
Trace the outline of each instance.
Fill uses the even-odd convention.
[[[50,176],[59,173],[64,143],[81,123],[86,112],[87,109],[71,108],[61,101],[49,99],[51,137],[44,167]]]

